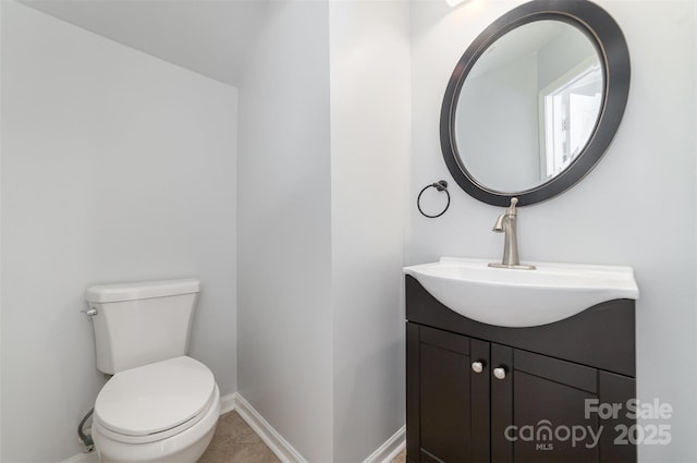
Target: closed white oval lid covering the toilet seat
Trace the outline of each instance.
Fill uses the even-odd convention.
[[[115,374],[97,395],[95,417],[122,435],[161,432],[205,412],[215,388],[206,365],[170,358]]]

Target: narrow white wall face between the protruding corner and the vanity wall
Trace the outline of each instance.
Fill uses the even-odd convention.
[[[404,425],[409,9],[330,2],[333,462]]]

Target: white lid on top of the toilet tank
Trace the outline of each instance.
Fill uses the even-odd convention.
[[[142,281],[135,283],[96,284],[87,288],[87,302],[120,302],[150,297],[166,297],[198,293],[200,281],[195,278],[180,280]]]

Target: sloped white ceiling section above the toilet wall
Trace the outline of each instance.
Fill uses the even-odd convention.
[[[21,0],[51,16],[240,86],[265,0]]]

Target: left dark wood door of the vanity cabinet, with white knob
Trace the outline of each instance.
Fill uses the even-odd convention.
[[[488,370],[489,343],[407,324],[408,461],[489,461]]]

